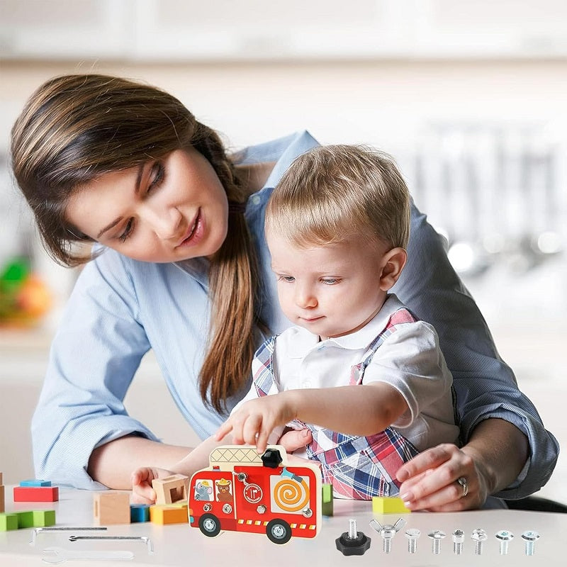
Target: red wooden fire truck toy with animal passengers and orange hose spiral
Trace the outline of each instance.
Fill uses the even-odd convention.
[[[288,464],[286,449],[228,445],[210,454],[210,467],[191,476],[189,523],[208,537],[221,529],[266,534],[274,544],[315,537],[321,526],[318,466]]]

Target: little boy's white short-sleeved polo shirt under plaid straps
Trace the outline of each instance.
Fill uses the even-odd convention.
[[[278,390],[346,386],[352,366],[365,358],[371,342],[400,307],[403,305],[398,298],[390,295],[376,316],[360,330],[325,341],[320,341],[318,335],[303,327],[283,331],[276,337],[274,351],[274,378]],[[364,372],[363,384],[377,381],[391,384],[408,403],[408,411],[392,427],[417,450],[457,441],[459,427],[454,423],[452,377],[432,325],[423,321],[396,325]],[[235,410],[245,401],[257,397],[252,385]],[[275,442],[282,430],[283,427],[274,432],[269,442]]]

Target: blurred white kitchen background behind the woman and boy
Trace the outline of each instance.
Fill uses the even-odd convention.
[[[32,306],[0,329],[0,415],[17,411],[0,437],[7,482],[33,474],[29,418],[76,277],[42,252],[18,198],[10,128],[45,79],[91,71],[171,91],[235,149],[307,128],[390,152],[567,444],[564,0],[0,0],[0,270],[11,289],[28,282],[18,305]],[[127,407],[169,442],[194,438],[151,354]],[[566,475],[561,455],[541,495],[567,503]]]

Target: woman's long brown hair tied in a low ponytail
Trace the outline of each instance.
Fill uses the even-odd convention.
[[[65,218],[74,191],[103,174],[188,147],[208,159],[229,202],[245,201],[218,134],[174,96],[118,77],[63,75],[45,82],[26,103],[12,128],[11,161],[45,249],[57,262],[76,266],[90,258],[77,252],[76,243],[91,239]],[[249,376],[254,329],[261,324],[254,307],[257,280],[244,215],[232,206],[228,237],[210,262],[212,322],[199,376],[201,398],[218,412]]]

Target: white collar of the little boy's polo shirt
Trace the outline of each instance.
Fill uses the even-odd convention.
[[[400,307],[403,307],[400,300],[390,294],[386,297],[381,310],[364,327],[349,335],[327,339],[323,342],[319,342],[318,335],[313,335],[303,327],[297,327],[296,333],[290,340],[289,352],[293,353],[290,356],[291,358],[304,358],[312,349],[323,345],[336,345],[349,350],[366,350],[369,344],[386,328],[391,315]]]

